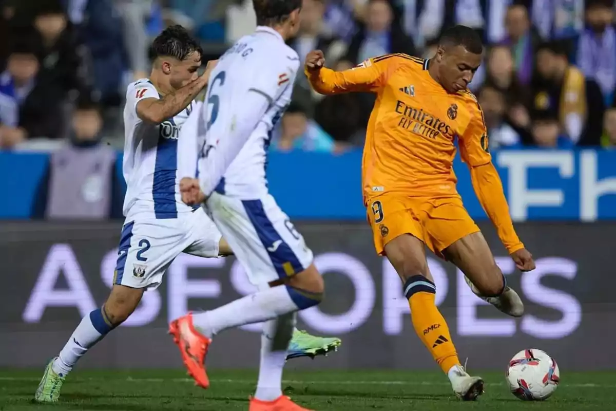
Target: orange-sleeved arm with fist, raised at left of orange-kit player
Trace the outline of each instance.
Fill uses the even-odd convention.
[[[351,70],[334,71],[325,67],[323,52],[315,50],[306,56],[304,72],[312,88],[320,94],[377,91],[383,83],[387,62],[382,57],[368,59]]]

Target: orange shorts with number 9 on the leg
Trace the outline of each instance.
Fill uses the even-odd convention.
[[[385,245],[395,237],[411,234],[444,258],[445,248],[479,232],[459,195],[434,198],[383,193],[368,199],[367,207],[376,252],[380,255],[385,255]]]

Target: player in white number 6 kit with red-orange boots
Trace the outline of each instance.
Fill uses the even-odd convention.
[[[291,99],[299,57],[285,41],[298,30],[301,0],[253,0],[257,29],[237,41],[210,75],[198,133],[199,179],[180,182],[182,199],[205,203],[259,291],[171,322],[169,332],[197,385],[208,388],[205,356],[214,335],[265,322],[251,411],[304,410],[282,395],[295,313],[320,303],[323,279],[304,238],[269,195],[266,153]]]

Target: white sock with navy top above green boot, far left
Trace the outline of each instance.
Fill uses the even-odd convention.
[[[87,350],[102,340],[111,329],[112,327],[103,320],[100,308],[83,317],[52,364],[52,370],[58,375],[66,376]]]

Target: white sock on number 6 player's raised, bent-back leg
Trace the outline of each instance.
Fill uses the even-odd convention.
[[[257,291],[211,311],[193,314],[193,324],[201,333],[211,337],[227,328],[272,320],[298,309],[286,287],[280,285]]]

